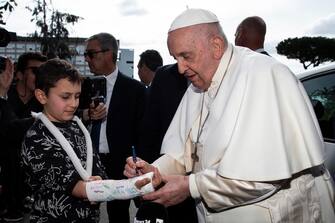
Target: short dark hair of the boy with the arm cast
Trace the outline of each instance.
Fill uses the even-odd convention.
[[[79,71],[69,62],[61,59],[51,59],[42,64],[36,72],[36,89],[44,91],[46,95],[49,89],[55,87],[57,81],[67,79],[71,83],[82,82]]]

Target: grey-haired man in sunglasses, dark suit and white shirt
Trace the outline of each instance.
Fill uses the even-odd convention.
[[[144,85],[118,70],[117,55],[118,43],[111,34],[99,33],[88,38],[85,60],[92,73],[106,77],[107,94],[105,105],[91,107],[83,116],[100,120],[92,125],[92,142],[108,177],[115,180],[124,178],[125,160],[131,155],[132,146],[137,146],[145,105]],[[109,222],[129,222],[129,204],[130,200],[108,202]]]

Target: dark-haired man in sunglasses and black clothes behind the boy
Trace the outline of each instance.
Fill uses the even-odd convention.
[[[3,216],[6,222],[19,221],[23,212],[29,212],[24,206],[25,199],[30,196],[28,187],[24,184],[24,175],[20,167],[20,151],[22,140],[33,123],[31,112],[42,111],[42,106],[34,96],[35,72],[37,68],[47,61],[47,57],[39,52],[26,52],[20,55],[16,66],[16,81],[12,83],[7,92],[7,105],[18,120],[7,120],[2,148],[5,153],[5,185],[6,203],[8,212]]]

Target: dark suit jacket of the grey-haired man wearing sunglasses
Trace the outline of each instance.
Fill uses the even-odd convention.
[[[110,179],[125,178],[124,165],[126,158],[131,156],[131,147],[138,144],[144,107],[144,85],[119,72],[107,114],[106,134],[110,153],[107,161],[103,161]]]

